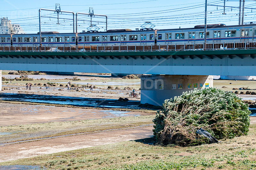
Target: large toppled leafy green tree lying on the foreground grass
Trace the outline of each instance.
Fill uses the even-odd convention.
[[[165,100],[153,120],[153,131],[159,144],[207,144],[208,138],[196,134],[197,129],[207,130],[218,140],[247,135],[250,113],[248,105],[232,92],[194,90]]]

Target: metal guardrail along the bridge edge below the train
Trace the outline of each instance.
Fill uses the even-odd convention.
[[[170,44],[129,44],[89,46],[0,46],[0,51],[32,52],[124,52],[124,51],[190,51],[230,50],[256,48],[256,41],[170,43]]]

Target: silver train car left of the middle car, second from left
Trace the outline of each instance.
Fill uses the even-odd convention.
[[[41,43],[44,46],[70,46],[76,45],[75,33],[42,32]],[[12,35],[13,46],[39,46],[40,35],[37,34],[14,34]]]

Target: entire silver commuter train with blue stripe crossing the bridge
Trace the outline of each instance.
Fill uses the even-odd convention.
[[[37,34],[0,34],[1,46],[39,46]],[[253,41],[256,39],[256,24],[226,26],[207,25],[207,42]],[[107,32],[58,33],[42,32],[44,46],[88,46],[124,44],[170,44],[204,42],[204,25],[194,28],[136,30],[119,29]]]

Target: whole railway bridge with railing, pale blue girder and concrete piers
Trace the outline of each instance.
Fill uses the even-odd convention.
[[[162,105],[182,92],[213,87],[212,75],[255,76],[255,44],[0,46],[0,70],[144,74],[141,103]]]

